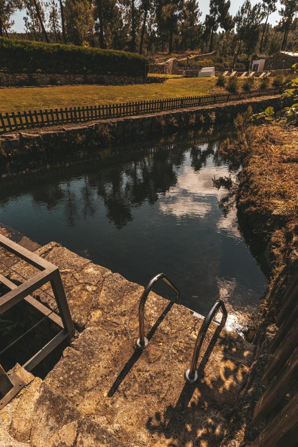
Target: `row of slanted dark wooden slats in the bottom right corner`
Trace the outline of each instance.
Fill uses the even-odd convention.
[[[253,421],[265,428],[251,447],[298,445],[298,275],[287,289],[277,317],[270,358],[262,382],[267,385]]]

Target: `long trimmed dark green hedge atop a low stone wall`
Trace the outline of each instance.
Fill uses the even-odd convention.
[[[0,69],[10,73],[142,76],[146,60],[125,51],[0,38]]]

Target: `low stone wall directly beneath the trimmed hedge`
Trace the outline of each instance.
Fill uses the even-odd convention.
[[[148,83],[164,82],[163,78],[147,77]],[[99,74],[48,74],[48,73],[4,73],[0,72],[0,87],[23,87],[40,85],[127,85],[143,84],[143,77],[113,76]]]

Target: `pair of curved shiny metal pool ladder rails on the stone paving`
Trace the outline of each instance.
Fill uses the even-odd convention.
[[[149,293],[153,289],[153,286],[160,279],[162,279],[168,286],[170,286],[176,292],[176,300],[175,300],[176,304],[179,304],[179,302],[180,302],[179,290],[177,289],[176,286],[174,286],[174,284],[167,278],[167,276],[164,273],[159,273],[158,275],[154,276],[154,278],[151,279],[151,281],[149,282],[145,291],[143,292],[143,295],[142,295],[142,297],[140,299],[140,303],[139,303],[139,338],[136,341],[136,348],[139,349],[140,351],[144,351],[148,347],[148,344],[149,344],[148,339],[145,337],[145,303],[146,303]],[[223,328],[225,325],[226,318],[227,318],[227,311],[226,311],[226,308],[224,305],[224,301],[219,299],[210,308],[210,310],[207,313],[206,317],[204,318],[203,324],[199,330],[199,333],[198,333],[198,336],[196,339],[196,343],[195,343],[195,347],[194,347],[194,352],[193,352],[190,368],[187,369],[184,373],[184,378],[189,383],[195,383],[196,380],[198,379],[197,363],[198,363],[198,359],[199,359],[200,350],[203,345],[203,341],[207,334],[208,328],[220,308],[222,309],[222,312],[223,312],[220,327]]]

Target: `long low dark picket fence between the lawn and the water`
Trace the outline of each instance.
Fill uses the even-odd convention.
[[[157,99],[151,101],[124,102],[122,104],[94,105],[60,109],[33,110],[29,112],[0,113],[0,134],[45,126],[120,118],[157,113],[164,110],[200,107],[258,96],[276,95],[281,88],[266,88],[241,93],[218,93],[201,96]]]

